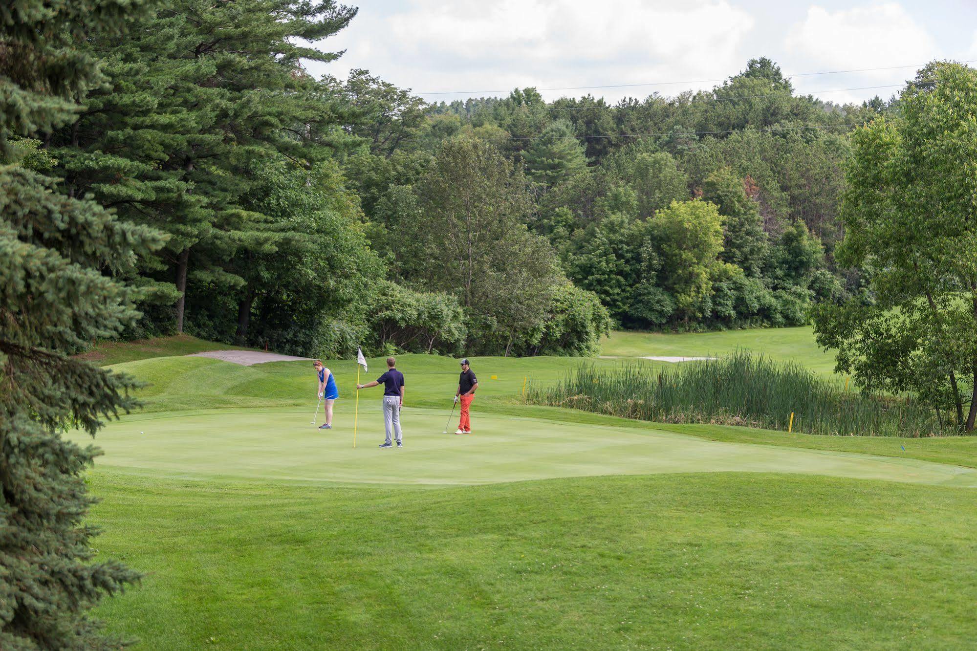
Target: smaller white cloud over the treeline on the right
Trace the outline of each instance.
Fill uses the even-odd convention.
[[[893,65],[921,65],[942,52],[933,36],[899,3],[887,2],[867,7],[830,12],[811,7],[802,22],[786,34],[786,51],[804,61],[809,71],[846,70]],[[801,70],[797,70],[801,71]],[[801,92],[884,84],[900,84],[912,78],[913,67],[870,70],[822,77],[798,76],[794,86]],[[898,88],[879,88],[887,97]],[[858,101],[876,91],[850,91],[825,94],[831,101]]]

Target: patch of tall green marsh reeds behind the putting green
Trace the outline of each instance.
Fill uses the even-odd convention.
[[[910,397],[845,391],[794,362],[743,350],[674,369],[584,366],[556,385],[530,386],[526,401],[626,418],[711,423],[841,436],[939,436],[941,416]],[[942,414],[942,422],[950,422]]]

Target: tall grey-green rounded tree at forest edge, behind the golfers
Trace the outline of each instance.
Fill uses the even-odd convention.
[[[415,190],[417,218],[395,244],[404,279],[454,292],[469,342],[507,354],[543,319],[560,280],[549,243],[525,226],[525,178],[488,143],[461,137],[443,145]]]

